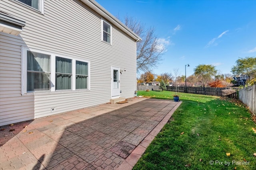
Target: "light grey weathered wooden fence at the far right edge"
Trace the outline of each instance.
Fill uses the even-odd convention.
[[[256,115],[256,84],[241,89],[239,100],[249,107],[252,114]]]

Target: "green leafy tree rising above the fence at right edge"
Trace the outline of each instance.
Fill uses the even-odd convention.
[[[239,58],[236,65],[231,68],[231,72],[235,75],[246,74],[249,81],[256,78],[256,57]]]

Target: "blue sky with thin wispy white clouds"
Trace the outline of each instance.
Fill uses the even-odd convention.
[[[199,64],[230,73],[238,57],[256,56],[256,0],[96,0],[112,15],[154,27],[167,52],[154,74],[187,76]]]

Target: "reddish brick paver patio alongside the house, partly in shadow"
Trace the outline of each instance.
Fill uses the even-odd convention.
[[[0,127],[0,168],[132,169],[180,103],[131,98]]]

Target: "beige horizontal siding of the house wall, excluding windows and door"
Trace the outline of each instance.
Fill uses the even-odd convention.
[[[101,16],[79,0],[44,0],[44,15],[11,0],[0,3],[3,12],[26,21],[18,36],[0,33],[0,126],[109,102],[111,66],[126,70],[120,97],[133,97],[136,42],[115,25],[110,45],[101,41]],[[90,61],[90,90],[21,95],[21,47]]]

